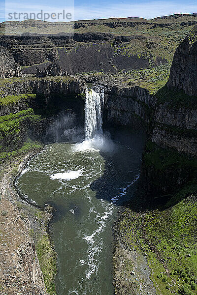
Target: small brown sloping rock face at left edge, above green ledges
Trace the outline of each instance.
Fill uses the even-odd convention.
[[[0,46],[0,78],[20,77],[21,69],[13,56]]]

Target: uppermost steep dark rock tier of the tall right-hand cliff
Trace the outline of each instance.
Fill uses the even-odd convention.
[[[176,49],[167,87],[197,95],[197,26]]]

